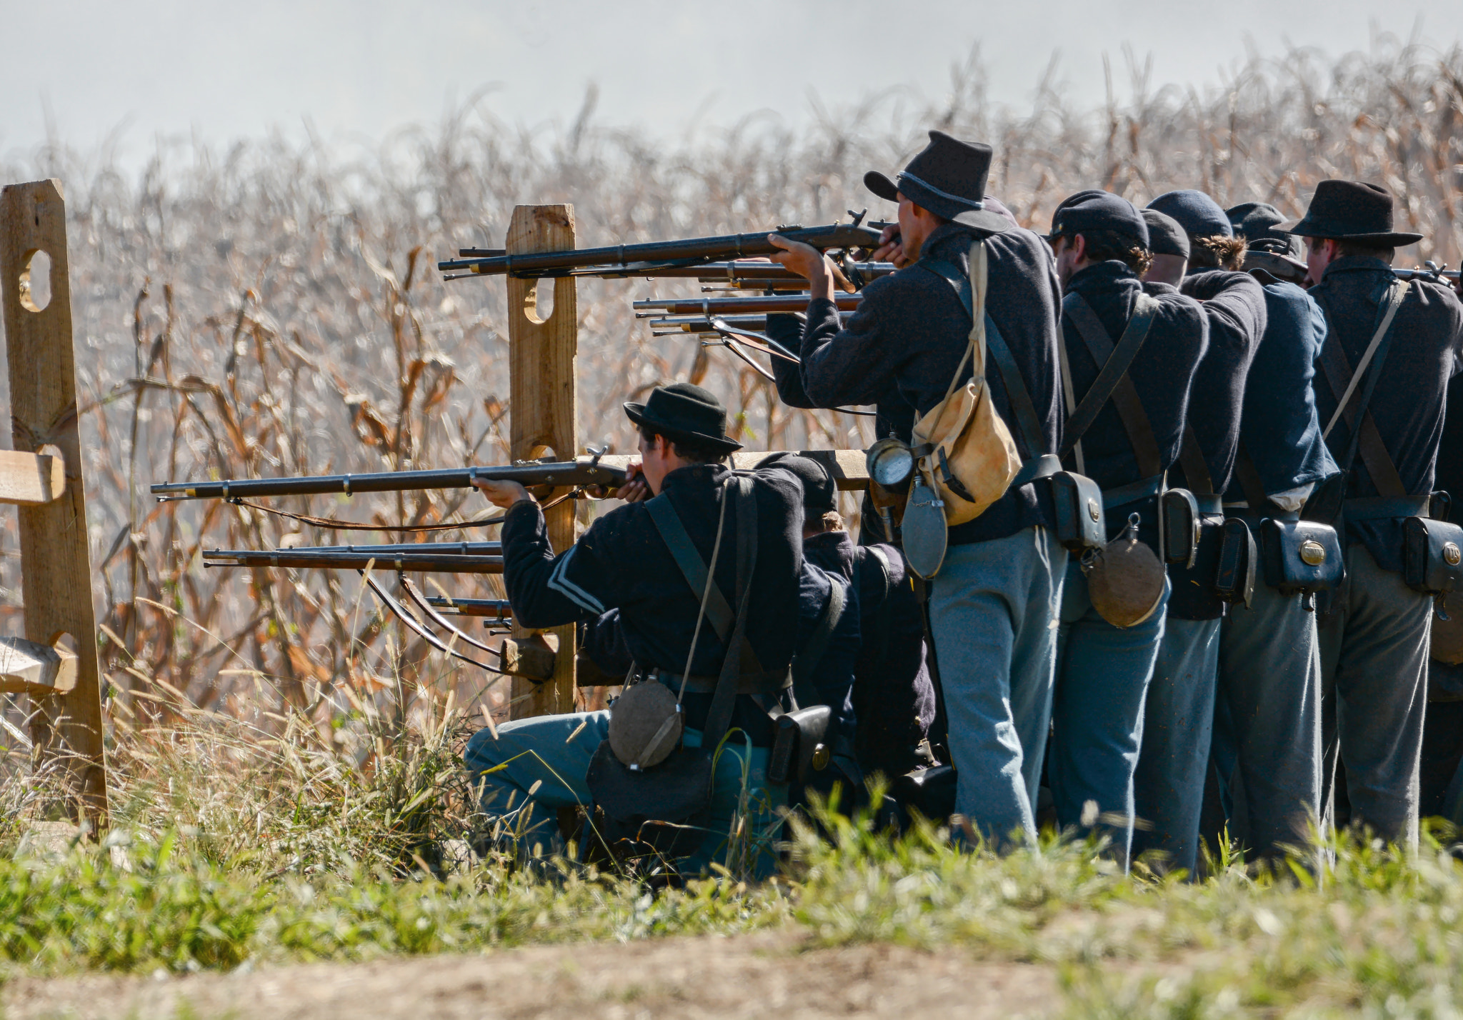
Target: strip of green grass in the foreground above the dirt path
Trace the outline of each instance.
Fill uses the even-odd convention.
[[[1304,868],[1220,866],[1203,882],[1128,878],[1094,843],[996,856],[933,827],[900,840],[830,820],[789,874],[651,896],[568,865],[483,865],[446,880],[342,863],[272,877],[183,852],[193,840],[0,863],[10,972],[149,973],[246,960],[358,960],[527,942],[783,928],[808,944],[903,942],[1058,969],[1071,1017],[1456,1017],[1463,866],[1432,836],[1413,856],[1355,840]]]

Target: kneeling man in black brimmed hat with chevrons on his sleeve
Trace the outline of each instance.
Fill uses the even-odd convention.
[[[748,831],[772,833],[780,825],[775,808],[786,799],[786,789],[767,779],[770,710],[786,705],[793,685],[799,620],[808,616],[800,606],[809,600],[825,604],[832,585],[843,588],[844,582],[805,571],[803,493],[793,471],[774,464],[736,477],[724,465],[739,443],[726,436],[726,410],[715,397],[689,383],[657,386],[645,404],[626,404],[625,411],[641,429],[638,476],[622,489],[622,496],[635,502],[598,518],[569,549],[556,555],[549,546],[543,511],[522,486],[478,481],[478,487],[508,509],[503,581],[515,619],[543,628],[595,620],[619,610],[614,640],[623,642],[631,670],[672,691],[685,688],[685,746],[698,748],[707,740],[710,748],[726,738],[715,758],[708,831],[689,858],[688,866],[695,869],[724,856],[743,786],[752,815]],[[742,487],[743,496],[734,498],[733,484]],[[752,514],[746,522],[743,508]],[[726,543],[723,555],[715,549],[718,531],[739,536],[743,524],[755,531],[749,578],[737,577],[745,568],[737,556],[724,555],[739,544],[736,539]],[[740,607],[736,596],[751,591],[745,610],[730,610],[734,616],[724,625],[710,613],[702,616],[712,588],[696,591],[688,581],[688,547],[691,556],[699,558],[702,574],[710,569],[714,590],[729,606]],[[832,702],[835,724],[851,726],[849,686],[859,648],[857,613],[846,613],[840,625],[843,631],[827,645],[827,667],[837,673],[841,661],[846,679],[841,691],[827,692],[827,701]],[[734,675],[737,694],[718,702],[717,678],[739,629],[745,641]],[[556,846],[556,812],[590,803],[585,776],[609,727],[610,713],[595,711],[524,719],[496,732],[477,732],[465,761],[481,784],[484,811],[516,828],[522,847]],[[762,855],[761,863],[765,869],[771,858]]]

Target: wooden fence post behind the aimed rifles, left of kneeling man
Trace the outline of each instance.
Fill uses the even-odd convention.
[[[573,206],[516,206],[505,247],[509,255],[572,249]],[[540,315],[537,291],[537,280],[508,278],[509,455],[525,460],[552,449],[560,460],[569,460],[579,452],[575,281],[572,277],[553,281],[553,312],[547,318]],[[573,544],[573,500],[549,509],[544,517],[554,552]],[[515,623],[514,634],[530,632]],[[559,637],[553,679],[534,683],[515,676],[514,719],[573,711],[573,626],[554,628],[550,634]]]

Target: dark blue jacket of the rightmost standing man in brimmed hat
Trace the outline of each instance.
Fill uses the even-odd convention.
[[[1353,369],[1377,329],[1377,310],[1393,278],[1391,266],[1381,259],[1349,256],[1328,265],[1321,282],[1311,290],[1330,322],[1331,332],[1325,342],[1339,342]],[[1460,370],[1463,304],[1451,287],[1413,280],[1391,328],[1394,335],[1387,361],[1366,410],[1377,420],[1377,430],[1402,476],[1403,487],[1409,495],[1421,496],[1434,487],[1444,400],[1448,380]],[[1315,408],[1321,427],[1331,420],[1336,398],[1318,364]],[[1342,416],[1325,440],[1342,468],[1346,468],[1342,461],[1350,440],[1350,429]],[[1352,468],[1346,495],[1378,495],[1359,455]],[[1346,537],[1347,541],[1364,543],[1384,569],[1402,569],[1402,518],[1347,521]]]

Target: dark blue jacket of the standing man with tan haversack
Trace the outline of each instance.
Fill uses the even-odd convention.
[[[923,255],[969,272],[971,240],[964,227],[945,224],[925,241]],[[1056,373],[1059,288],[1052,252],[1028,230],[993,234],[986,247],[986,310],[1017,360],[1045,433],[1045,449],[1021,452],[1055,452],[1062,414]],[[884,411],[897,394],[906,408],[913,408],[911,414],[904,411],[913,424],[945,397],[969,342],[970,316],[955,290],[928,269],[907,266],[865,287],[863,301],[846,326],[840,326],[832,301],[809,301],[799,351],[803,359],[799,398],[808,407],[878,402]],[[778,370],[789,372],[783,366]],[[967,367],[960,382],[969,379]],[[1018,435],[1001,373],[992,369],[986,379],[996,411]],[[799,388],[780,389],[796,394]],[[903,427],[898,435],[909,439],[898,414],[887,411],[882,419]],[[951,528],[951,544],[1004,539],[1021,528],[1050,524],[1046,492],[1046,486],[1031,484],[1008,492],[974,521]]]

